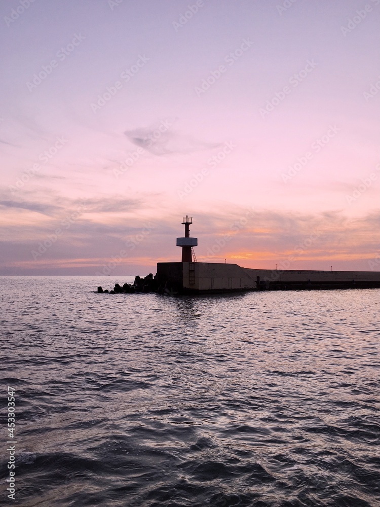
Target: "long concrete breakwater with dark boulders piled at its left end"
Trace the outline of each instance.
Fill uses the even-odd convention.
[[[136,276],[133,284],[117,283],[98,293],[212,294],[238,291],[377,288],[378,271],[270,270],[242,268],[237,264],[203,262],[158,263],[157,274]]]

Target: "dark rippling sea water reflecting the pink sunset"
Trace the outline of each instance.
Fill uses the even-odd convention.
[[[379,504],[380,291],[113,281],[2,278],[16,504]]]

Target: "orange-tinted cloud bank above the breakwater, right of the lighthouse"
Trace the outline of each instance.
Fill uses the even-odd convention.
[[[339,211],[306,214],[225,207],[213,214],[198,214],[193,221],[191,235],[199,238],[203,252],[228,238],[220,251],[214,249],[218,250],[214,262],[239,252],[243,260],[255,256],[282,259],[291,254],[359,260],[376,251],[380,243],[380,211],[350,219]],[[199,247],[198,251],[201,258]]]

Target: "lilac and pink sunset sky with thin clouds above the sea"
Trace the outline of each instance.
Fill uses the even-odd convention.
[[[380,0],[0,4],[0,274],[380,270]]]

